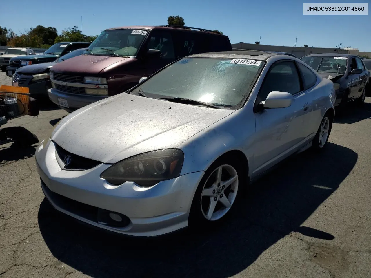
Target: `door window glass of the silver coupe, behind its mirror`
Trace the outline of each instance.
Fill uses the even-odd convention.
[[[292,95],[301,91],[299,75],[294,62],[280,62],[270,68],[262,87],[260,87],[258,101],[265,100],[272,91],[288,92]]]

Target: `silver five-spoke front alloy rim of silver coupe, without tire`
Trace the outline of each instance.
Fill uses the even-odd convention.
[[[201,211],[210,221],[222,218],[233,205],[238,191],[238,175],[231,165],[221,165],[207,178],[201,192]]]

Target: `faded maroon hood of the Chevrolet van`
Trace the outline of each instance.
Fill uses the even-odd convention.
[[[79,55],[53,67],[53,71],[58,73],[88,73],[98,74],[106,67],[126,64],[134,61],[133,58],[115,57],[115,56],[98,56],[98,55]]]

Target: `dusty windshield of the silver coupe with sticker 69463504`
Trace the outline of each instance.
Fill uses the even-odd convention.
[[[246,99],[264,62],[245,59],[184,58],[161,70],[132,92],[155,98],[186,98],[236,107]],[[237,63],[236,63],[237,62]],[[251,62],[250,62],[251,63]]]

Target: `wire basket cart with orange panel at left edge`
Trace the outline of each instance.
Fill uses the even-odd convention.
[[[0,86],[0,118],[10,120],[28,113],[30,96],[24,89],[28,90],[24,87]]]

